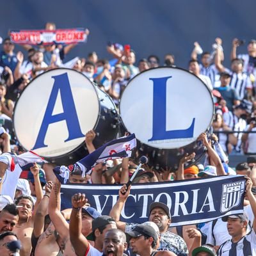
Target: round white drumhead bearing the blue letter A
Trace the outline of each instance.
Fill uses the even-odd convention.
[[[67,68],[50,70],[31,81],[15,105],[13,125],[17,140],[40,156],[63,156],[84,142],[84,134],[97,124],[99,108],[97,92],[83,74]],[[47,109],[47,122],[43,124]],[[72,122],[65,120],[67,116]],[[38,143],[39,133],[46,147],[34,148],[36,141],[42,145]],[[70,134],[76,136],[70,138]]]

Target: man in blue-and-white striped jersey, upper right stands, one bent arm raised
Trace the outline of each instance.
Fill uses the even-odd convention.
[[[244,99],[249,95],[252,95],[252,81],[247,72],[243,72],[243,60],[234,59],[231,62],[231,70],[225,68],[221,63],[221,50],[216,49],[216,58],[215,58],[216,68],[220,72],[229,72],[231,75],[230,87],[234,88],[239,96],[239,99]]]

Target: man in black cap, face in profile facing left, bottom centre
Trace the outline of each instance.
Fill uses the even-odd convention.
[[[132,252],[140,256],[174,256],[175,253],[168,251],[156,251],[157,233],[153,227],[145,224],[136,225],[132,231],[126,233]]]

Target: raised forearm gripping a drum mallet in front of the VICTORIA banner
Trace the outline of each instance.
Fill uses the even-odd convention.
[[[116,221],[116,226],[122,231],[125,231],[126,223],[120,221],[120,216],[121,216],[122,209],[124,208],[124,204],[125,204],[128,196],[130,195],[131,186],[129,186],[127,191],[126,191],[126,189],[127,189],[127,187],[125,184],[124,184],[124,186],[122,186],[122,188],[120,188],[119,193],[118,193],[118,195],[119,195],[118,200],[116,201],[116,204],[113,206],[113,208],[109,212],[109,216],[111,216]],[[125,191],[126,191],[126,193],[125,193]],[[123,195],[123,193],[125,193],[125,194]]]

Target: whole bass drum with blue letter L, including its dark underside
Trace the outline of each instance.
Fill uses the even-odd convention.
[[[211,127],[213,115],[209,88],[176,67],[141,72],[129,81],[120,100],[122,123],[138,139],[135,156],[148,155],[156,169],[177,170],[186,153],[195,152],[195,161],[204,156],[204,146],[196,140]]]

